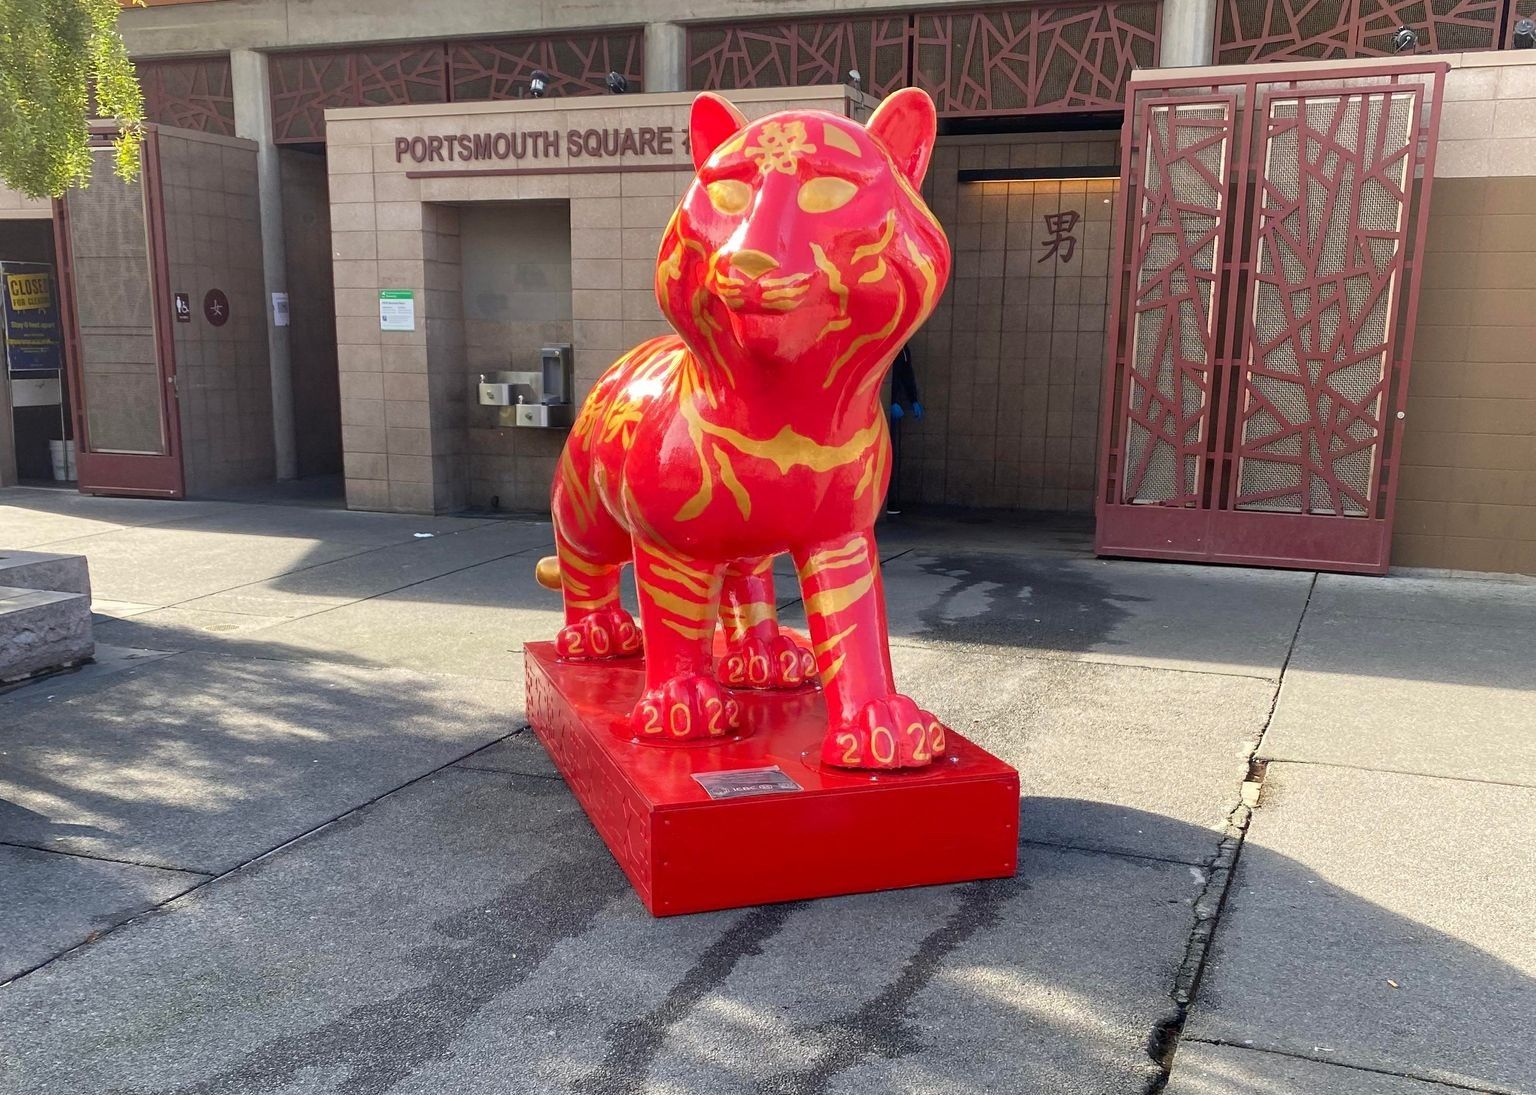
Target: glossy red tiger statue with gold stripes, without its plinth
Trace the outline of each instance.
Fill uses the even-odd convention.
[[[565,659],[645,651],[642,742],[728,734],[730,688],[817,676],[822,760],[919,768],[943,723],[895,690],[874,522],[891,476],[880,384],[949,276],[919,195],[932,100],[888,97],[868,124],[825,111],[748,123],[716,95],[688,121],[697,175],[662,237],[656,299],[676,335],[596,382],[554,479]],[[794,559],[813,650],[780,633],[773,557]],[[633,562],[641,630],[619,607]],[[716,620],[725,631],[713,671]]]

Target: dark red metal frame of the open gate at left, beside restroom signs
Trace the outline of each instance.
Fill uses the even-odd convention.
[[[75,427],[75,467],[80,491],[84,495],[146,495],[152,498],[183,498],[186,482],[181,467],[181,415],[177,398],[175,332],[172,326],[170,270],[166,249],[164,187],[160,174],[160,138],[154,126],[146,126],[143,172],[140,186],[144,197],[147,235],[149,298],[154,312],[155,356],[160,366],[160,453],[98,452],[91,444],[86,405],[91,390],[86,382],[77,293],[91,292],[75,283],[74,246],[69,230],[69,203],[89,200],[89,190],[72,190],[54,201],[54,246],[58,255],[60,323],[65,329],[65,369],[69,373],[69,412]],[[112,134],[94,129],[92,149],[111,147]],[[108,164],[97,155],[95,170]]]

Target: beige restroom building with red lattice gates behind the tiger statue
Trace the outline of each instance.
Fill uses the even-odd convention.
[[[690,175],[690,92],[862,117],[917,84],[942,115],[925,190],[955,264],[912,342],[926,413],[900,427],[905,504],[1097,513],[1101,545],[1126,554],[1379,570],[1390,548],[1393,565],[1536,574],[1522,5],[151,0],[123,29],[155,166],[132,192],[100,170],[57,207],[0,194],[0,261],[65,275],[74,412],[54,421],[88,435],[83,490],[341,473],[353,508],[538,510],[564,430],[513,425],[479,402],[479,376],[536,372],[567,344],[579,401],[664,329],[651,267]],[[1358,278],[1381,307],[1346,324],[1356,359],[1338,390],[1276,379],[1264,316],[1284,301],[1255,310],[1287,290],[1266,273],[1279,237],[1260,207],[1284,151],[1261,108],[1299,103],[1287,88],[1312,95],[1296,114],[1332,89],[1336,118],[1381,106],[1407,126],[1407,160],[1375,167],[1385,194],[1409,164],[1402,194],[1356,218],[1385,218],[1356,241],[1376,249]],[[1204,106],[1154,101],[1178,94]],[[1404,95],[1410,114],[1392,114]],[[1184,256],[1204,296],[1155,307],[1135,289],[1161,261],[1137,210],[1161,178],[1193,223],[1193,177],[1157,175],[1190,111],[1226,126],[1203,161],[1224,187],[1218,243]],[[1370,124],[1375,140],[1387,121]],[[1318,164],[1335,172],[1318,194],[1350,187]],[[114,235],[124,217],[134,230]],[[1349,281],[1309,267],[1296,286],[1324,275]],[[1184,324],[1163,362],[1146,324],[1180,327],[1178,307],[1209,324]],[[1335,321],[1296,312],[1283,333],[1299,346]],[[1266,418],[1292,389],[1299,433]],[[0,415],[0,482],[41,467],[25,418]]]

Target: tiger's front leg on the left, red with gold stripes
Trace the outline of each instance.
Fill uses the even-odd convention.
[[[723,570],[636,538],[634,584],[645,633],[645,694],[630,716],[637,740],[708,740],[740,725],[740,703],[711,674]]]

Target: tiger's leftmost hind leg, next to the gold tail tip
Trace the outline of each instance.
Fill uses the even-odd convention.
[[[584,662],[641,653],[641,630],[619,605],[628,533],[601,505],[582,507],[581,499],[571,498],[559,482],[550,510],[565,605],[565,627],[554,637],[554,651]]]

